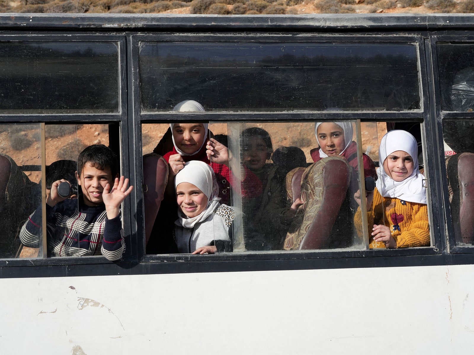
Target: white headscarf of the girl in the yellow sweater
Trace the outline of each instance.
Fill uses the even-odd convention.
[[[413,160],[413,172],[403,181],[395,181],[383,168],[383,162],[394,151],[405,151]],[[383,197],[395,197],[403,201],[427,204],[426,191],[423,187],[425,178],[418,168],[418,144],[415,137],[407,131],[393,130],[382,137],[379,147],[379,177],[375,182],[377,190]]]

